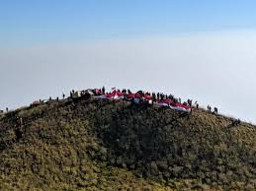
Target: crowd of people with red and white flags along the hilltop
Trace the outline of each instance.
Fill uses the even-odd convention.
[[[173,95],[166,95],[163,93],[149,93],[138,91],[136,93],[131,93],[129,89],[118,90],[116,88],[112,88],[111,91],[107,92],[105,87],[101,89],[87,89],[83,91],[70,91],[69,96],[66,96],[64,93],[62,94],[62,99],[65,98],[77,98],[83,96],[94,96],[95,98],[102,99],[124,99],[128,101],[132,101],[134,103],[148,103],[148,104],[157,104],[159,106],[170,107],[175,110],[183,110],[187,112],[192,112],[192,108],[199,109],[198,101],[193,102],[192,99],[187,99],[186,101],[182,101],[180,97],[175,97]],[[31,105],[39,105],[43,102],[52,101],[52,97],[49,96],[47,100],[37,100],[34,101]],[[57,96],[54,100],[59,101],[59,97]],[[212,112],[212,107],[208,105],[209,112]],[[6,107],[6,112],[9,111],[8,107]],[[4,110],[0,110],[0,114],[5,112]],[[217,114],[217,108],[213,107],[213,114]]]

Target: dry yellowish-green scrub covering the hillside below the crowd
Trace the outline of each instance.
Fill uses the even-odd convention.
[[[254,126],[202,109],[64,100],[0,119],[1,190],[255,189],[255,154]]]

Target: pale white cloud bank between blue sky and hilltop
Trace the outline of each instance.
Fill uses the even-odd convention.
[[[256,122],[256,32],[0,48],[0,107],[72,88],[117,86],[193,97]]]

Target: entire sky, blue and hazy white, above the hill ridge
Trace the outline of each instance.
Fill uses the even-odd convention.
[[[256,124],[252,0],[0,0],[0,109],[119,87]]]

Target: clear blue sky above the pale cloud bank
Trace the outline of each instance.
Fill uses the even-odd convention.
[[[1,0],[0,43],[254,30],[255,7],[253,0]]]

